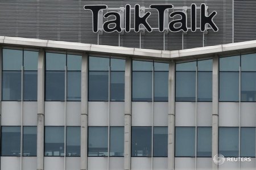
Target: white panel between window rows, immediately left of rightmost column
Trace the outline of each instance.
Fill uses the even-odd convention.
[[[197,126],[212,126],[212,102],[197,102]]]

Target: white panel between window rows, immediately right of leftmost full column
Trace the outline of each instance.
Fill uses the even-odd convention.
[[[64,101],[45,101],[44,125],[64,126]]]

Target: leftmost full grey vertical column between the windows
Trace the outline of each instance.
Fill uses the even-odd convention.
[[[37,169],[44,169],[44,50],[38,56],[38,139]]]

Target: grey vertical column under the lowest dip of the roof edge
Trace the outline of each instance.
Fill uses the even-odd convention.
[[[175,62],[169,63],[168,78],[168,170],[174,170],[175,150]]]

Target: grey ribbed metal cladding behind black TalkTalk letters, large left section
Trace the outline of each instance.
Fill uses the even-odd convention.
[[[139,48],[139,33],[131,31],[120,35],[117,32],[97,35],[92,31],[92,12],[84,10],[84,5],[105,4],[109,7],[125,6],[129,3],[134,6],[138,3],[141,6],[149,7],[151,4],[171,3],[175,7],[190,6],[196,3],[198,6],[205,3],[209,6],[209,13],[217,11],[214,18],[219,31],[208,31],[204,36],[200,31],[187,33],[169,32],[165,35],[165,49],[187,49],[196,48],[203,45],[218,45],[232,42],[232,0],[197,0],[197,1],[156,1],[156,0],[130,0],[130,1],[86,1],[86,0],[66,0],[66,1],[29,1],[29,0],[9,0],[0,1],[0,35],[28,37],[36,39],[60,40],[71,42],[84,42],[101,45],[119,45]],[[170,10],[170,12],[172,12]],[[188,11],[189,13],[189,11]],[[131,11],[131,25],[133,27],[133,10]],[[189,15],[188,15],[189,17]],[[199,11],[197,11],[199,18]],[[170,19],[171,20],[171,19]],[[169,20],[169,21],[170,21]],[[189,21],[189,20],[188,20]],[[151,10],[148,23],[152,27],[158,26],[158,15],[156,10]],[[197,19],[197,27],[199,27]],[[158,31],[144,33],[141,35],[141,48],[163,49],[164,34]],[[182,41],[182,36],[184,37]],[[183,42],[183,44],[182,44]]]

